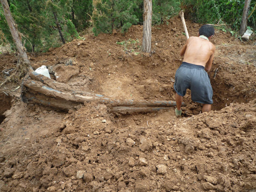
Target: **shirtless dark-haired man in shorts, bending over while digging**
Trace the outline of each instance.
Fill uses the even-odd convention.
[[[191,90],[191,99],[202,103],[202,113],[209,112],[212,106],[212,86],[208,71],[212,67],[215,46],[209,42],[214,35],[214,28],[203,25],[198,37],[190,37],[180,51],[184,59],[175,74],[176,116],[181,116],[181,103],[186,89]]]

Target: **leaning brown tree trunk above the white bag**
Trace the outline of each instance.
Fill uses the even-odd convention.
[[[30,65],[30,61],[29,58],[26,54],[25,48],[23,47],[22,43],[21,43],[21,37],[20,37],[20,33],[17,30],[17,24],[15,23],[12,14],[10,12],[10,8],[8,5],[7,0],[0,0],[1,5],[3,7],[3,14],[6,18],[6,22],[10,28],[11,34],[12,34],[12,38],[15,42],[15,45],[17,47],[18,52],[20,53],[20,57],[23,59],[24,64],[27,64],[29,67],[29,70],[33,70],[31,65]]]

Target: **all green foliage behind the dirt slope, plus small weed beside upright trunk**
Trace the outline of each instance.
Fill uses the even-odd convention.
[[[58,25],[66,42],[80,38],[78,32],[90,26],[99,35],[112,33],[113,29],[124,33],[132,25],[143,25],[143,0],[8,0],[8,3],[28,51],[41,52],[61,46]],[[247,23],[248,29],[253,30],[256,29],[255,4],[251,2],[249,15],[252,14]],[[180,7],[186,17],[197,23],[227,23],[227,27],[220,29],[238,37],[244,0],[152,0],[152,24],[168,23]],[[9,42],[14,46],[1,6],[0,29],[0,44]]]

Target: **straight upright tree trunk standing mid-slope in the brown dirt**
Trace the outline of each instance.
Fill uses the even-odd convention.
[[[142,51],[151,52],[152,0],[144,0]]]

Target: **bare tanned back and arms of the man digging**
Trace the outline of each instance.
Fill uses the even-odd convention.
[[[184,62],[204,66],[208,72],[212,67],[215,46],[207,39],[190,37],[180,51]]]

